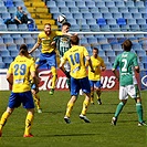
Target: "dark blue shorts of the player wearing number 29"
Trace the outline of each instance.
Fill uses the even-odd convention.
[[[34,102],[31,91],[23,93],[11,92],[8,106],[10,108],[14,108],[19,107],[21,104],[23,105],[24,108],[34,108]]]

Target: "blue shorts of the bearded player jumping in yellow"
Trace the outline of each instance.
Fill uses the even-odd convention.
[[[56,67],[56,54],[55,54],[55,52],[41,53],[39,59],[36,60],[35,64],[38,64],[39,66],[46,64],[48,69],[51,69],[52,66]]]

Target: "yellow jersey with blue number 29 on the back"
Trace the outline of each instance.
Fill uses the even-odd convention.
[[[8,70],[8,73],[13,75],[12,92],[22,93],[30,91],[30,72],[33,71],[35,71],[34,61],[18,55]]]

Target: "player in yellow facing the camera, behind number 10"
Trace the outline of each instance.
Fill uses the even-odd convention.
[[[94,69],[94,73],[91,72],[91,67],[88,66],[88,81],[91,84],[91,103],[94,104],[94,88],[96,88],[96,94],[97,94],[97,103],[102,105],[101,102],[101,73],[102,71],[106,70],[104,60],[98,56],[98,49],[94,48],[93,49],[93,55],[91,56],[92,65]],[[86,63],[86,66],[88,63]]]

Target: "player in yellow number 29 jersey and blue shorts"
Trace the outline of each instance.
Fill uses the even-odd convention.
[[[8,117],[12,114],[15,107],[21,105],[21,103],[28,111],[23,137],[33,137],[30,133],[34,117],[34,103],[29,83],[30,75],[36,85],[35,93],[38,93],[38,77],[35,75],[34,62],[28,57],[27,45],[22,44],[18,57],[10,64],[7,73],[7,80],[9,84],[12,85],[12,92],[9,97],[7,111],[2,114],[0,119],[0,137],[2,136],[2,128],[7,123]],[[11,80],[11,76],[13,80]]]

